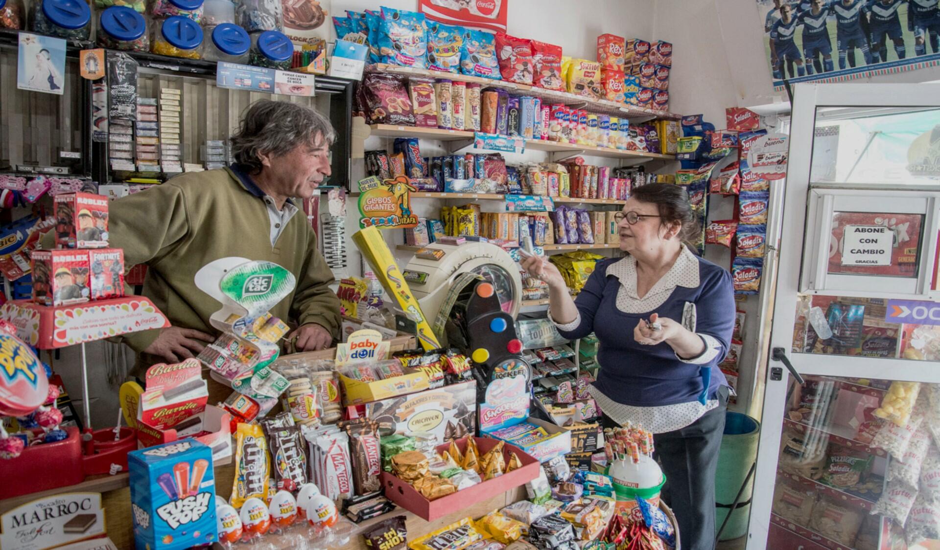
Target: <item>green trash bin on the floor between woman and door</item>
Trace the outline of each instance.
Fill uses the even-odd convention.
[[[721,437],[721,451],[718,452],[718,471],[714,475],[715,532],[721,528],[721,524],[731,512],[734,497],[738,496],[738,491],[747,478],[747,472],[757,459],[759,438],[759,421],[741,413],[728,411],[725,418],[725,434]],[[753,490],[754,476],[751,476],[737,508],[731,512],[731,519],[722,531],[720,540],[731,541],[747,534]]]

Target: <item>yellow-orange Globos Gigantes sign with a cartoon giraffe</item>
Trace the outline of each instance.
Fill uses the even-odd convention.
[[[380,180],[368,176],[359,180],[359,227],[379,229],[409,228],[417,225],[411,211],[409,193],[415,191],[406,176]]]

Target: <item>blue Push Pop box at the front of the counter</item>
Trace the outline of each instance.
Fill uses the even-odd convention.
[[[170,550],[216,540],[212,451],[183,439],[127,454],[137,548]]]

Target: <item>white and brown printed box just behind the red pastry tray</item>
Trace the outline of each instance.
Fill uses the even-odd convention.
[[[366,418],[379,422],[382,435],[431,432],[443,444],[477,433],[477,383],[472,380],[365,406]]]

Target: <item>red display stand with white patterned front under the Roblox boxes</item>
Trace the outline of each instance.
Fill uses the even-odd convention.
[[[0,319],[16,327],[16,335],[39,349],[95,342],[129,332],[169,327],[149,298],[128,296],[72,306],[40,306],[27,300],[8,301]]]

